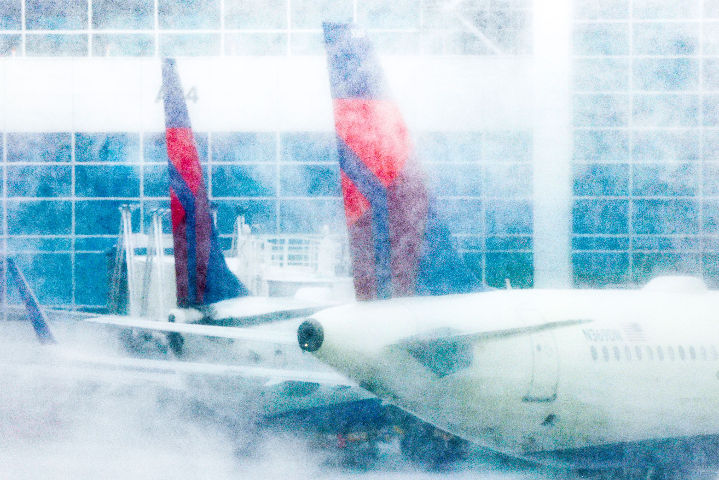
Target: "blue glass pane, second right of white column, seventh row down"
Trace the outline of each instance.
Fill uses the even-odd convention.
[[[694,200],[635,200],[632,230],[636,233],[697,233],[699,217]]]

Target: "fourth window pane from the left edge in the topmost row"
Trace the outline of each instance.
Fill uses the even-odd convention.
[[[220,1],[157,0],[157,19],[166,30],[219,28]]]

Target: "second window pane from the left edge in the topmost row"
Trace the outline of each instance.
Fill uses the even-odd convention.
[[[82,30],[87,26],[87,1],[25,1],[25,27],[27,30]]]

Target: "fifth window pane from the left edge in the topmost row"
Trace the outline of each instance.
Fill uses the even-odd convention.
[[[288,0],[225,0],[225,28],[287,28]]]

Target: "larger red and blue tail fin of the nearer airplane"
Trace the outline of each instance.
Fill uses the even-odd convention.
[[[489,289],[452,246],[365,31],[323,26],[357,299]]]

